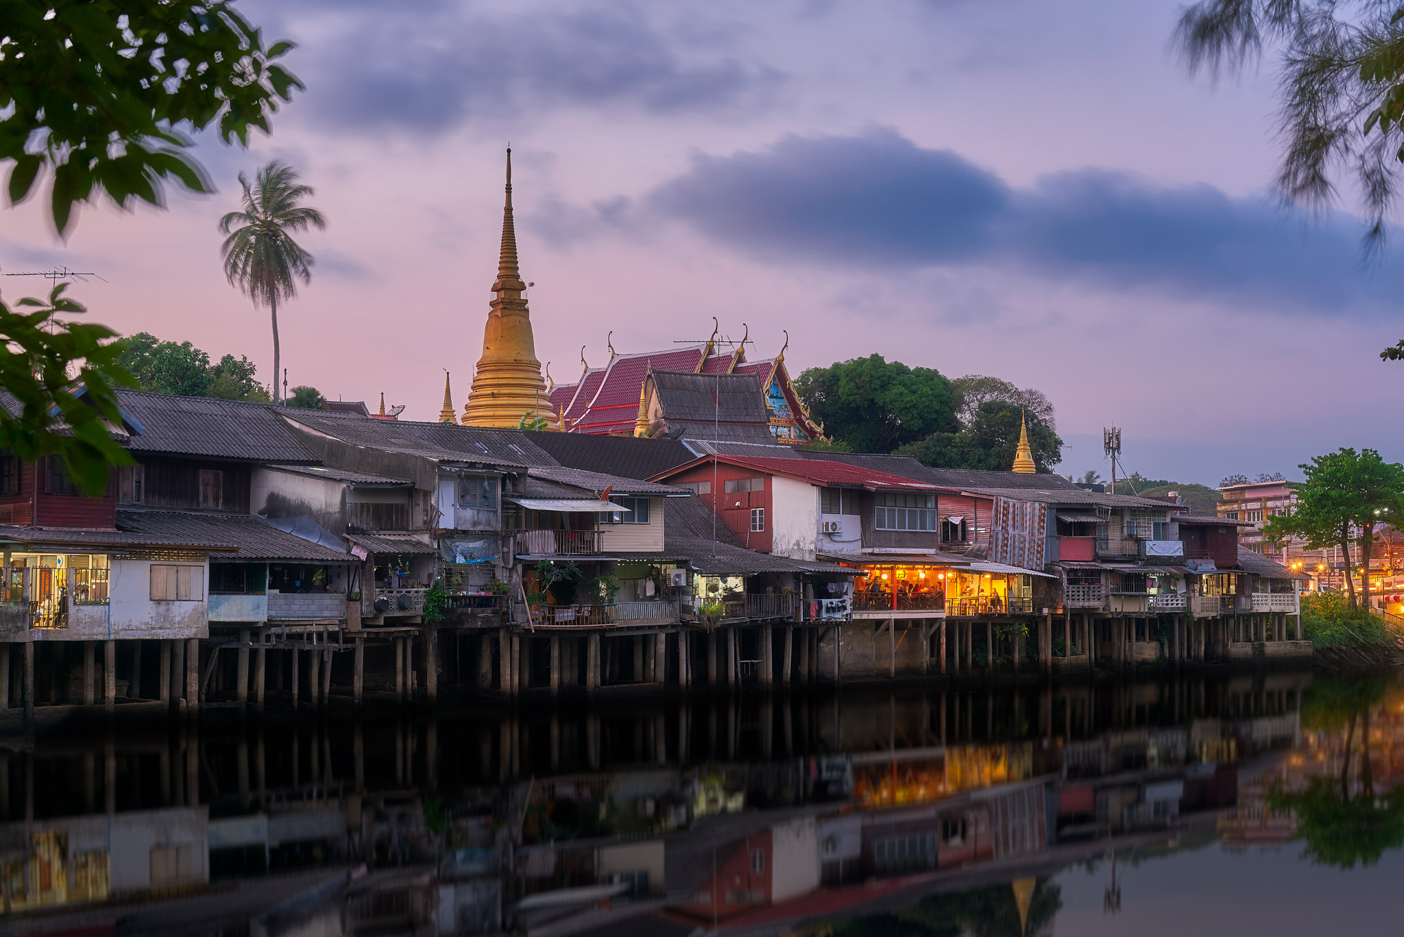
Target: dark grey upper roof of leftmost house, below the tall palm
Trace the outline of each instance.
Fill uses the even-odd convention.
[[[142,424],[142,434],[131,440],[133,452],[257,462],[317,461],[284,421],[288,407],[145,391],[118,391],[117,399]]]

